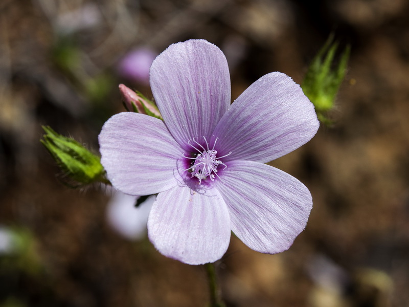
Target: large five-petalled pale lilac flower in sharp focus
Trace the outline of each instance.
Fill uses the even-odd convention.
[[[116,189],[158,193],[148,217],[155,248],[205,264],[223,256],[233,231],[253,250],[287,250],[305,228],[311,194],[264,163],[305,144],[319,127],[301,87],[270,73],[230,104],[228,64],[206,40],[179,42],[158,55],[150,85],[163,121],[114,115],[99,143]]]

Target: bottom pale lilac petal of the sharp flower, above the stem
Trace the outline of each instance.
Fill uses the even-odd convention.
[[[167,257],[190,265],[214,262],[229,246],[229,212],[217,190],[204,195],[178,186],[157,195],[148,236]]]

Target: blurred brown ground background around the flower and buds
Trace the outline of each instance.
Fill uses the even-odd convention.
[[[235,99],[272,71],[301,83],[330,33],[351,46],[334,124],[271,163],[310,189],[307,227],[277,255],[232,236],[222,296],[408,306],[408,12],[405,0],[1,0],[0,307],[206,306],[205,269],[115,227],[110,190],[64,185],[41,125],[98,153],[102,124],[123,111],[118,84],[151,98],[149,65],[171,43],[219,46]]]

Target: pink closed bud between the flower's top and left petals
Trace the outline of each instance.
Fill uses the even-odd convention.
[[[142,94],[132,91],[124,84],[119,84],[119,92],[121,93],[122,100],[124,101],[128,111],[135,111],[136,109],[138,113],[162,118],[161,113],[153,102],[149,101]]]

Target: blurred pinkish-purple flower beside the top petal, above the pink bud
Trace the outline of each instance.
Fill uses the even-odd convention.
[[[118,64],[118,74],[131,81],[149,84],[149,68],[157,53],[149,48],[139,48],[127,53]]]

